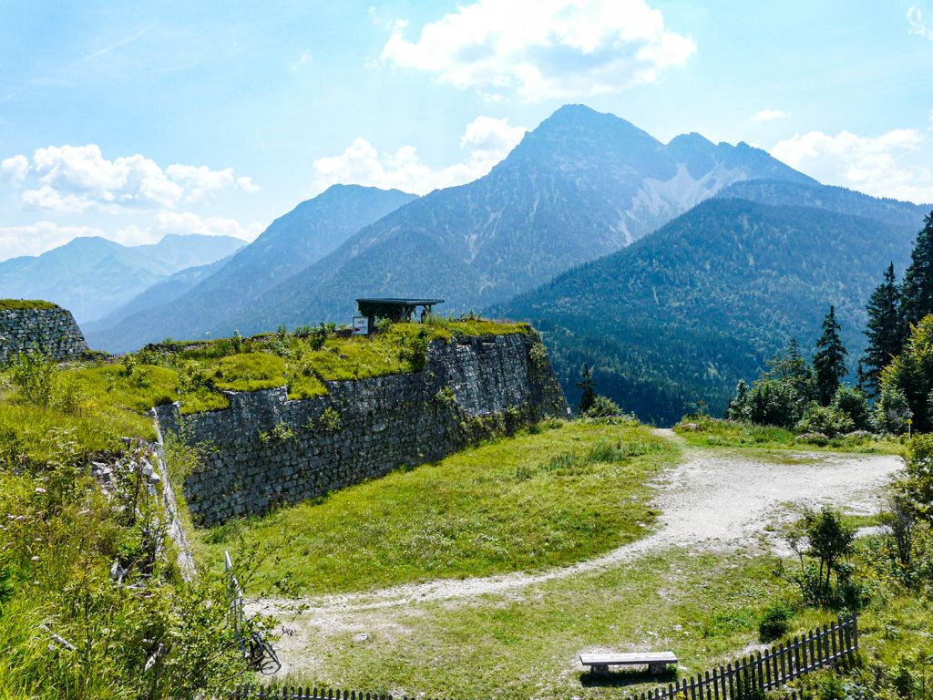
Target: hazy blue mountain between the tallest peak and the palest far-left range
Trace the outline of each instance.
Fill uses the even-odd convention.
[[[327,256],[356,231],[411,202],[415,195],[397,189],[334,186],[272,222],[218,270],[185,293],[160,306],[95,324],[91,347],[132,350],[145,343],[174,338],[229,335],[251,313],[267,289]],[[111,322],[112,321],[112,322]],[[275,329],[279,325],[272,325]]]

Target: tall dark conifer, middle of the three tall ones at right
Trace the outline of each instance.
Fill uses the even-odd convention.
[[[869,322],[865,329],[868,346],[859,362],[858,381],[872,393],[878,390],[881,371],[904,345],[904,322],[900,310],[900,289],[894,263],[887,267],[884,282],[873,292],[868,304]]]

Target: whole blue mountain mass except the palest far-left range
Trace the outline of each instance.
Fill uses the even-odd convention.
[[[444,312],[534,323],[572,402],[585,362],[601,393],[669,423],[701,402],[721,413],[791,338],[814,343],[829,304],[855,369],[865,302],[889,261],[906,265],[928,208],[568,105],[474,182],[327,189],[86,332],[126,351],[346,322],[359,296],[438,296]]]

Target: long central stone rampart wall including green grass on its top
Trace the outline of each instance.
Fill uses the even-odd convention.
[[[469,335],[456,326],[398,324],[375,338],[328,338],[327,350],[302,357],[251,346],[215,358],[205,371],[214,391],[219,383],[255,390],[225,391],[225,409],[157,410],[163,432],[202,446],[202,466],[185,481],[194,520],[216,525],[258,514],[566,416],[535,331],[494,329]],[[302,367],[312,369],[304,375]],[[319,386],[296,391],[288,381],[296,375]]]

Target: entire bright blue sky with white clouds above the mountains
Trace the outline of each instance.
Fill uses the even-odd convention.
[[[933,203],[933,0],[0,0],[0,259],[462,184],[568,103]]]

